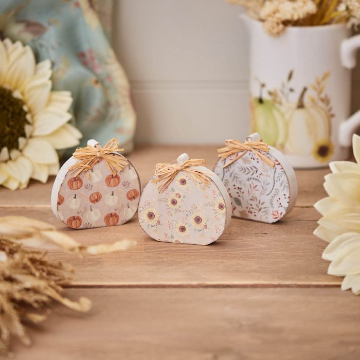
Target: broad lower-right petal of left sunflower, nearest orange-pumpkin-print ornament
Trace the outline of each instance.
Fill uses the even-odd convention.
[[[55,164],[59,161],[58,154],[50,142],[42,138],[30,138],[23,154],[37,164]]]

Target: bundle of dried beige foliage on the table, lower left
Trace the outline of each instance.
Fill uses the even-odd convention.
[[[91,308],[91,300],[85,297],[73,301],[63,296],[63,285],[71,283],[73,267],[48,261],[46,253],[39,249],[56,248],[82,256],[125,250],[132,245],[134,242],[129,240],[80,245],[45,222],[25,217],[0,218],[0,351],[12,354],[11,335],[30,345],[26,321],[45,320],[53,300],[75,311],[87,312]]]

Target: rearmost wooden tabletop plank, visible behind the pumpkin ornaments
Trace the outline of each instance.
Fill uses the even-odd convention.
[[[129,155],[140,175],[142,185],[153,175],[156,163],[172,161],[179,154],[187,152],[194,158],[205,158],[208,167],[213,168],[217,153],[215,145],[177,145],[139,147]],[[297,206],[312,206],[321,197],[326,196],[323,190],[323,176],[329,169],[298,170],[296,176],[299,184]],[[31,181],[25,190],[10,191],[0,187],[0,206],[50,206],[50,194],[54,177],[51,176],[44,185]]]

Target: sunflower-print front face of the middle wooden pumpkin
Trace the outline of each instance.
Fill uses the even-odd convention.
[[[207,245],[217,240],[225,228],[225,201],[211,181],[199,186],[180,171],[161,193],[151,182],[143,189],[138,217],[141,228],[163,242]]]

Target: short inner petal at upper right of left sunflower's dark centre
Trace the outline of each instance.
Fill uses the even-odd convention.
[[[31,82],[26,86],[24,97],[32,115],[44,109],[49,99],[50,90],[50,81]]]

